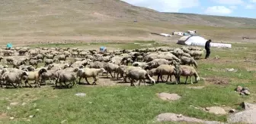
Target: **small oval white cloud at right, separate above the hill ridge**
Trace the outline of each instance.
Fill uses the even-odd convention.
[[[231,14],[232,10],[226,8],[225,6],[213,6],[206,8],[206,14],[213,14],[213,15],[223,15],[223,14]]]

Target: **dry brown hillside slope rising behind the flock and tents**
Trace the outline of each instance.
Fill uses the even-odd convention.
[[[204,36],[216,36],[208,31],[214,27],[205,26],[256,27],[255,19],[160,13],[119,0],[2,0],[0,17],[0,42],[151,39],[151,32],[172,33],[188,28],[199,29]],[[226,27],[227,32],[222,29],[217,37],[229,36]]]

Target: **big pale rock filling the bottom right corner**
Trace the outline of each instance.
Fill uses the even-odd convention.
[[[244,111],[230,115],[228,122],[256,123],[256,104],[244,103],[244,108]]]

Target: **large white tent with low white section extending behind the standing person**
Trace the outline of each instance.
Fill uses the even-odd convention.
[[[178,44],[180,45],[201,45],[204,46],[206,43],[206,39],[200,36],[182,36],[181,39],[178,40]],[[219,47],[219,48],[231,48],[231,44],[222,44],[222,43],[214,43],[211,42],[210,46]]]

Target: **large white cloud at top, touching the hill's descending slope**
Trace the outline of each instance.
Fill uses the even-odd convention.
[[[182,8],[194,8],[200,5],[199,0],[122,0],[132,5],[152,8],[161,12],[178,12]]]

